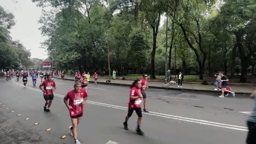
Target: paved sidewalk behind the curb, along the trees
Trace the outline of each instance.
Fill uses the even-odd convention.
[[[60,76],[54,76],[54,78],[60,79]],[[74,76],[65,76],[65,80],[73,80]],[[118,86],[130,86],[133,80],[111,80],[111,82],[106,82],[108,79],[106,78],[99,78],[97,83],[104,83],[106,85],[118,85]],[[94,77],[91,76],[90,82],[94,81]],[[178,84],[170,84],[168,86],[164,85],[164,82],[148,82],[149,88],[159,88],[159,89],[172,89],[178,91],[199,91],[199,92],[215,92],[219,93],[219,91],[214,91],[215,86],[213,85],[200,85],[200,84],[191,84],[191,83],[184,83],[182,88],[177,87]],[[255,86],[230,86],[232,91],[236,92],[237,94],[251,94],[256,87]]]

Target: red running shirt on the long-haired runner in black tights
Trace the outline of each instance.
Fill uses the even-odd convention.
[[[141,89],[137,88],[136,86],[131,88],[130,97],[137,97],[139,96],[139,94],[141,94]],[[142,102],[141,98],[130,99],[128,108],[129,109],[139,108],[141,107],[141,102]]]

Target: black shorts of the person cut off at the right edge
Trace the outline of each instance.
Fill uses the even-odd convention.
[[[247,121],[248,126],[248,135],[246,142],[247,144],[255,144],[256,143],[256,123]]]

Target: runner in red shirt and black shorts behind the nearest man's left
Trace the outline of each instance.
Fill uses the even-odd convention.
[[[55,82],[52,79],[53,79],[53,76],[48,75],[47,80],[42,82],[41,85],[39,86],[39,88],[44,92],[44,100],[45,100],[44,112],[51,112],[49,108],[53,103],[53,99],[54,99],[53,90],[55,91],[56,89]],[[48,109],[46,109],[47,105],[48,105]]]

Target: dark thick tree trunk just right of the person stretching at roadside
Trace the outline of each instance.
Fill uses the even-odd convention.
[[[246,62],[245,49],[243,49],[243,45],[242,45],[242,36],[239,32],[235,33],[235,35],[236,35],[236,43],[238,46],[238,51],[239,51],[240,59],[241,59],[240,82],[247,82],[248,63]]]

